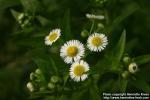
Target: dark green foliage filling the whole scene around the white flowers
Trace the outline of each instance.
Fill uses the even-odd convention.
[[[0,100],[102,100],[104,92],[150,93],[149,10],[146,0],[0,0]],[[86,18],[87,13],[104,19]],[[60,37],[46,45],[55,28]],[[94,32],[108,40],[98,52],[87,46]],[[72,63],[60,57],[69,40],[84,45],[82,60],[89,64],[84,81],[75,82]],[[129,68],[133,63],[137,71]]]

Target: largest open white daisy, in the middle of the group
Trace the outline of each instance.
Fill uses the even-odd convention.
[[[78,61],[84,56],[84,45],[78,40],[70,40],[61,47],[60,56],[68,64]]]

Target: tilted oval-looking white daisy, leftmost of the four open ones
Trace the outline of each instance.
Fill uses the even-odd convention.
[[[60,29],[53,29],[48,36],[45,37],[45,44],[52,45],[61,35]]]

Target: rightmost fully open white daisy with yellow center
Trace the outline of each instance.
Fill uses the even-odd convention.
[[[104,34],[93,33],[87,40],[87,47],[94,52],[100,52],[104,50],[107,44],[108,40]]]

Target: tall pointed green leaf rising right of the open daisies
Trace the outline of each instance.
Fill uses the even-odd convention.
[[[118,66],[125,49],[125,42],[126,32],[124,30],[117,45],[105,53],[104,58],[100,59],[97,64],[91,68],[91,72],[96,73],[97,71],[102,72],[104,70],[118,71]]]

